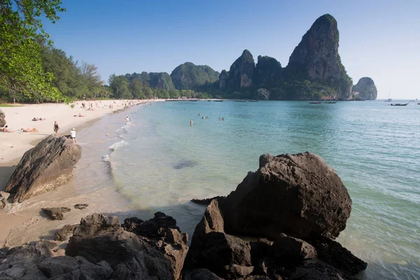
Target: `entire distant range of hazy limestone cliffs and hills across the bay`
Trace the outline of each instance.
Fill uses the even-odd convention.
[[[160,90],[192,90],[209,97],[274,100],[354,100],[377,98],[371,78],[357,85],[347,75],[338,53],[339,31],[332,15],[318,18],[282,67],[273,57],[253,55],[244,50],[229,71],[218,73],[207,65],[181,64],[169,75],[163,73],[127,74]],[[153,76],[158,75],[158,79]],[[172,95],[172,94],[171,94]]]

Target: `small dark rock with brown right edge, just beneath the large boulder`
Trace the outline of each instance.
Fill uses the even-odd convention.
[[[287,235],[281,235],[276,238],[271,246],[271,250],[274,258],[293,264],[316,258],[316,249],[314,246],[302,239],[288,237]]]

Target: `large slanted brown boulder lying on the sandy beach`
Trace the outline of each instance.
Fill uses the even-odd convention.
[[[81,154],[82,148],[71,139],[50,135],[23,155],[6,191],[15,193],[13,202],[47,193],[71,179],[73,165]]]

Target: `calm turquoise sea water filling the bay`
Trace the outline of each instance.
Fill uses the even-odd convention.
[[[420,106],[388,105],[199,101],[135,106],[80,135],[85,155],[73,185],[76,193],[90,192],[92,170],[106,170],[99,172],[94,190],[112,190],[107,201],[118,197],[112,204],[114,211],[120,205],[120,216],[151,218],[163,211],[191,237],[204,212],[189,202],[192,198],[228,195],[248,171],[258,169],[264,153],[311,151],[336,170],[353,200],[338,241],[368,262],[358,277],[420,279]],[[125,114],[132,119],[128,125]],[[99,140],[87,140],[92,137]]]

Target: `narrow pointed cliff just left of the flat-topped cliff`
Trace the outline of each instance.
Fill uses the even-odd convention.
[[[250,87],[253,84],[255,62],[249,50],[244,50],[242,55],[233,62],[229,70],[227,83],[229,87]]]

